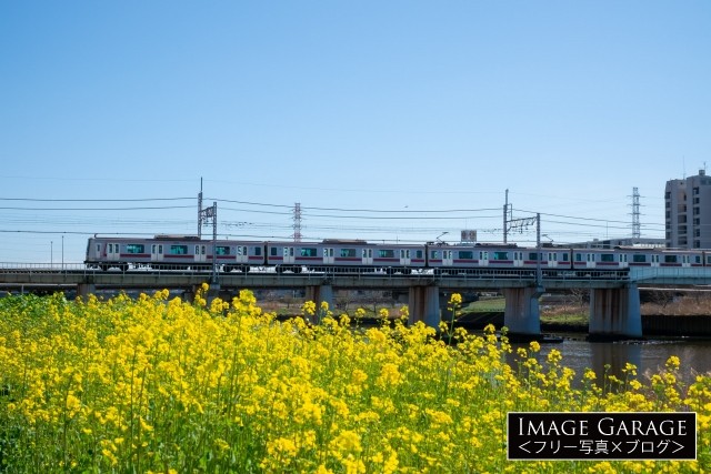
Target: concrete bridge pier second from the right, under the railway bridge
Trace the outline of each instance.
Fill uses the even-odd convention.
[[[504,288],[503,325],[511,335],[538,336],[541,334],[541,314],[538,299],[542,288]]]

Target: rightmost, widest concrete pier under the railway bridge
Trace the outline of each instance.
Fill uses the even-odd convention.
[[[589,339],[642,337],[640,290],[635,284],[620,289],[590,290]]]

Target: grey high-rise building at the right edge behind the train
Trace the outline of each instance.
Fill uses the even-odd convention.
[[[667,181],[664,205],[668,248],[711,249],[711,177],[705,170]]]

